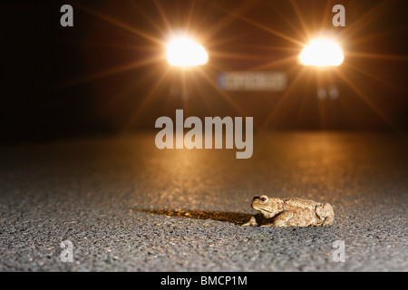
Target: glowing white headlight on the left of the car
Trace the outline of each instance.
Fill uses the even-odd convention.
[[[209,54],[199,43],[180,37],[167,45],[167,60],[174,66],[202,65],[209,60]]]

